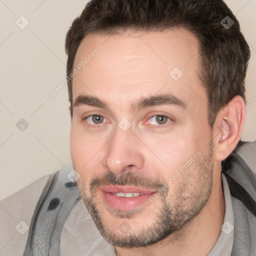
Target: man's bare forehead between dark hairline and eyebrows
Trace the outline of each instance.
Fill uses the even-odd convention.
[[[89,34],[75,55],[73,99],[89,94],[110,102],[114,97],[120,106],[160,91],[206,102],[198,49],[197,38],[182,28]]]

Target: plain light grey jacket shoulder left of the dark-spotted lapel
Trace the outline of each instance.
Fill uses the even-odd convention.
[[[0,201],[2,255],[22,255],[34,208],[51,177],[45,175]]]

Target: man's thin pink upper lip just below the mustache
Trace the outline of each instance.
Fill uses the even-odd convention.
[[[100,186],[100,190],[104,192],[109,193],[143,193],[143,194],[149,194],[156,192],[155,189],[148,189],[143,187],[137,187],[137,186],[115,186],[115,185],[105,185]]]

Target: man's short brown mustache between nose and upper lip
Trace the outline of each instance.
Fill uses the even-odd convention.
[[[90,182],[89,190],[93,192],[101,185],[132,185],[159,190],[164,186],[164,183],[159,178],[145,177],[139,172],[127,171],[117,175],[112,171],[108,171],[102,176],[93,178]]]

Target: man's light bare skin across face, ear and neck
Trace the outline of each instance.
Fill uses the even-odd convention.
[[[107,107],[82,104],[73,108],[71,157],[80,175],[77,184],[82,199],[94,221],[91,204],[97,209],[108,232],[105,238],[110,233],[124,240],[144,236],[142,231],[151,230],[159,220],[164,202],[170,215],[187,211],[184,217],[188,218],[194,208],[199,210],[187,221],[179,219],[177,230],[152,244],[128,247],[113,242],[116,255],[207,255],[220,234],[225,211],[220,162],[239,140],[245,110],[242,98],[235,96],[219,111],[213,128],[209,126],[206,91],[198,78],[198,45],[191,32],[173,28],[111,36],[94,33],[78,47],[74,66],[94,48],[99,52],[74,76],[73,101],[89,95]],[[183,73],[176,81],[169,75],[173,67]],[[186,108],[173,104],[131,108],[141,97],[167,93],[182,100]],[[92,114],[103,116],[102,123],[84,119]],[[149,119],[155,115],[170,119],[159,125],[155,118]],[[127,131],[118,127],[123,118],[131,124]],[[113,210],[98,187],[90,190],[92,180],[109,172],[122,181],[131,174],[131,184],[136,179],[148,187],[149,180],[165,184],[198,151],[198,159],[168,186],[165,198],[159,196],[135,210]],[[123,223],[129,227],[126,233],[118,228]]]

